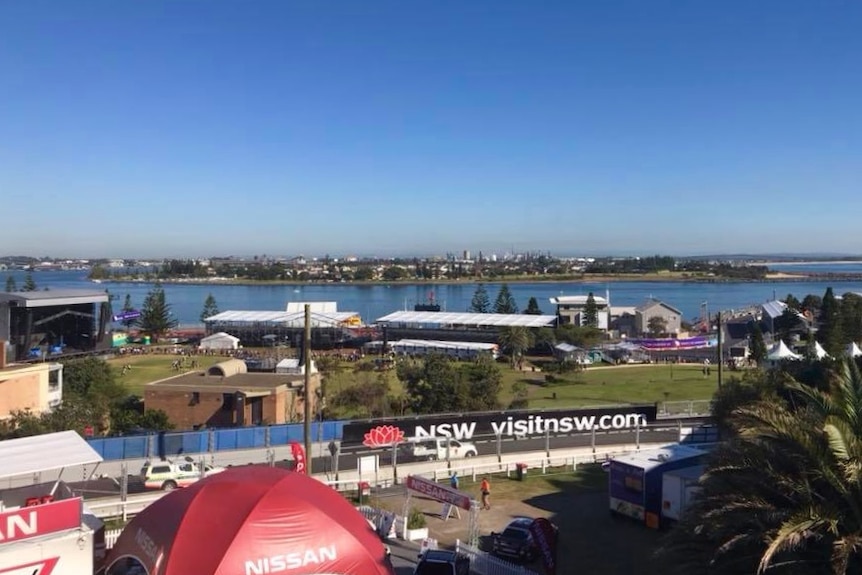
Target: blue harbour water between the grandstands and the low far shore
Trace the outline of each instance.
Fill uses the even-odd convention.
[[[844,267],[845,273],[851,272]],[[789,271],[789,270],[788,270]],[[0,290],[6,278],[13,275],[20,287],[24,282],[22,271],[0,271]],[[147,292],[152,289],[148,283],[103,283],[96,284],[87,279],[87,272],[42,271],[33,274],[39,289],[90,289],[108,290],[113,296],[114,309],[123,305],[126,294],[132,305],[139,307]],[[486,283],[488,295],[493,303],[499,284]],[[862,293],[862,281],[775,281],[775,282],[530,282],[509,284],[509,289],[523,310],[531,297],[539,302],[544,313],[554,313],[548,301],[560,295],[586,295],[593,292],[597,296],[610,294],[611,305],[636,306],[647,298],[654,297],[666,302],[683,313],[686,320],[700,317],[702,309],[710,313],[719,310],[741,309],[763,303],[776,297],[784,298],[793,294],[802,299],[807,294],[822,296],[826,288],[832,286],[836,295],[846,292]],[[467,311],[470,300],[476,291],[475,283],[457,284],[304,284],[288,285],[191,285],[164,284],[165,295],[177,320],[182,325],[200,323],[200,313],[208,294],[215,297],[220,310],[282,310],[287,302],[335,301],[338,309],[354,311],[363,321],[373,322],[386,314],[403,309],[413,309],[416,303],[424,303],[433,294],[434,299],[445,309],[452,312]]]

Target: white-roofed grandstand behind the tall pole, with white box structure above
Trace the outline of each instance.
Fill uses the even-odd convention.
[[[361,345],[371,339],[357,312],[338,311],[336,302],[311,305],[311,345],[331,349]],[[305,303],[291,302],[285,311],[223,311],[204,320],[206,334],[238,337],[247,347],[300,346],[305,330]]]

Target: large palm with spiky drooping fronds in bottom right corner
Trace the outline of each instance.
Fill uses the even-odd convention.
[[[733,416],[702,490],[661,555],[671,573],[862,573],[862,376]]]

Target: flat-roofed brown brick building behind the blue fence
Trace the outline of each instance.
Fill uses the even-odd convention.
[[[146,409],[161,409],[177,429],[238,427],[302,421],[302,375],[248,373],[245,362],[230,359],[148,384]],[[312,413],[317,413],[320,375],[311,375]]]

